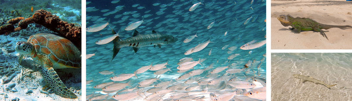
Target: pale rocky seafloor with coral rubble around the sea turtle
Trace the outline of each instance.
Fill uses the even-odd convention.
[[[0,13],[0,16],[0,26],[17,17],[6,13]],[[40,64],[28,56],[19,64],[16,43],[27,41],[29,36],[44,32],[54,33],[32,23],[24,30],[0,35],[0,101],[81,101],[81,69],[55,69],[63,83],[78,96],[78,99],[66,99],[55,94],[45,83]]]

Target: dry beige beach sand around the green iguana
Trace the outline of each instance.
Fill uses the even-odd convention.
[[[346,0],[271,1],[271,49],[352,49],[352,28],[331,28],[325,37],[315,31],[291,32],[279,15],[309,17],[330,25],[352,26],[352,2]],[[325,29],[322,29],[326,31]]]

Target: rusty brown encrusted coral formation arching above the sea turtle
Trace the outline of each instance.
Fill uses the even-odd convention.
[[[62,21],[58,16],[43,9],[37,10],[32,17],[21,19],[23,17],[17,17],[0,26],[0,35],[26,29],[28,24],[37,23],[69,39],[81,50],[82,29],[80,26]],[[17,28],[14,27],[15,23],[18,23]]]

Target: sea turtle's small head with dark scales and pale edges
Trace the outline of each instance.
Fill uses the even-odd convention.
[[[16,43],[16,51],[23,55],[31,55],[33,45],[29,42],[20,41]]]

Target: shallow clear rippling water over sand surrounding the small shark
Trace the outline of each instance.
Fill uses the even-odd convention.
[[[351,53],[272,53],[271,100],[351,100]],[[310,76],[321,84],[294,78],[293,74]]]

